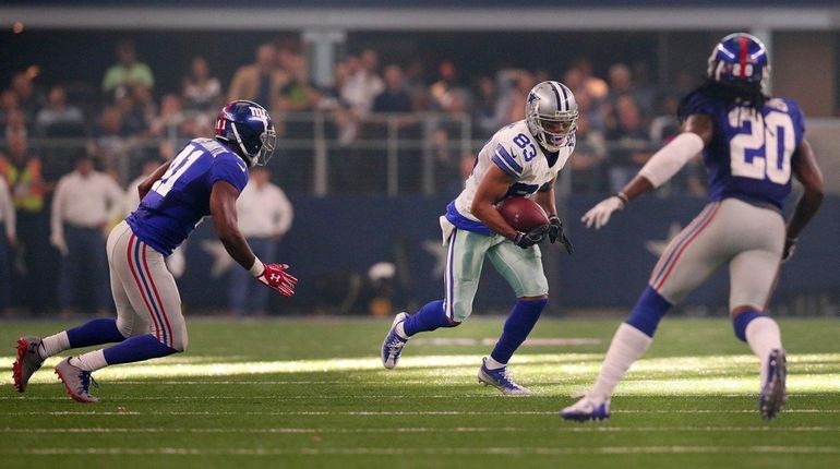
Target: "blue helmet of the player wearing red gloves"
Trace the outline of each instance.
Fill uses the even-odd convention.
[[[249,167],[265,166],[274,155],[277,134],[264,107],[243,99],[230,101],[219,111],[216,139],[238,145]]]

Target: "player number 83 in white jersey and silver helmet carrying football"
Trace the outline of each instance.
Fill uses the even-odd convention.
[[[575,147],[577,103],[559,82],[535,86],[525,105],[526,119],[493,135],[476,158],[464,191],[441,217],[446,257],[445,299],[427,303],[416,314],[397,314],[382,345],[382,363],[393,369],[415,334],[454,327],[472,313],[484,257],[507,280],[518,301],[502,336],[484,358],[480,382],[506,395],[528,395],[516,384],[507,362],[537,324],[549,298],[537,244],[549,234],[572,252],[554,205],[554,181]],[[549,214],[550,225],[520,232],[508,225],[495,204],[508,196],[533,197]]]

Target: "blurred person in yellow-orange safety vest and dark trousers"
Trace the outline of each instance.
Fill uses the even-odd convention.
[[[53,274],[49,272],[49,215],[45,197],[52,183],[45,179],[39,158],[29,152],[25,133],[7,136],[8,156],[0,156],[0,177],[5,180],[14,203],[17,244],[23,252],[21,285],[16,294],[35,314],[46,311]]]

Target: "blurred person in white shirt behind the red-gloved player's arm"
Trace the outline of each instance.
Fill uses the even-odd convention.
[[[265,166],[251,170],[251,180],[237,200],[239,229],[260,258],[274,258],[277,243],[291,227],[295,213],[280,188],[269,182]],[[256,285],[241,268],[230,272],[230,312],[235,315],[263,315],[268,303],[268,290]]]

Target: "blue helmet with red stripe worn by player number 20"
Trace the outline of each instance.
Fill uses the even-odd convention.
[[[733,33],[715,46],[707,73],[716,82],[752,84],[764,88],[770,74],[770,58],[757,37]]]

